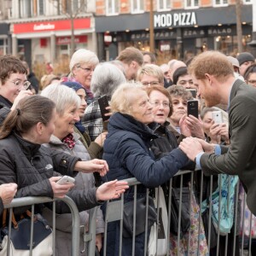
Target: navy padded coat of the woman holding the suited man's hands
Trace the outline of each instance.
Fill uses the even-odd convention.
[[[129,115],[114,113],[109,119],[103,159],[107,160],[108,180],[136,177],[146,187],[165,183],[188,162],[179,149],[173,149],[160,160],[151,151],[154,131]]]

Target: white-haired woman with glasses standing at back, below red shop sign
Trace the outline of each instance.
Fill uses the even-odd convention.
[[[92,102],[93,94],[90,90],[90,80],[95,67],[99,64],[96,54],[89,49],[78,49],[75,51],[69,62],[70,73],[68,77],[61,79],[61,82],[79,82],[86,90],[86,101]]]

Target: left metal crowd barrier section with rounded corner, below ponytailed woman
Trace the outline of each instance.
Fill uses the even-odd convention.
[[[14,199],[9,205],[5,205],[5,208],[9,208],[9,234],[11,232],[11,216],[13,212],[13,208],[15,207],[26,207],[26,206],[32,206],[32,218],[34,215],[34,206],[37,204],[42,204],[42,203],[48,203],[48,202],[53,202],[53,255],[55,255],[55,201],[64,201],[67,206],[70,208],[70,211],[73,215],[73,230],[72,230],[72,251],[71,255],[72,256],[79,256],[79,230],[80,230],[80,218],[79,218],[79,210],[76,207],[74,201],[69,198],[68,196],[65,196],[62,199],[52,199],[49,197],[39,197],[39,196],[28,196],[28,197],[23,197],[23,198],[16,198]],[[33,226],[33,225],[32,225]],[[33,230],[31,232],[33,234]],[[8,251],[7,255],[9,256],[9,245],[10,245],[10,236],[8,239]],[[33,255],[32,253],[32,239],[30,241],[30,255]],[[33,255],[37,256],[37,255]]]

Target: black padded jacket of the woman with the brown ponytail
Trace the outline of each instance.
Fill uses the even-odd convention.
[[[15,133],[0,140],[0,184],[17,183],[16,197],[53,197],[49,177],[74,176],[74,166],[79,158],[61,151],[51,150],[39,144],[30,143]],[[70,190],[67,195],[76,203],[79,211],[98,205],[96,189]],[[70,212],[61,201],[56,203],[56,212]]]

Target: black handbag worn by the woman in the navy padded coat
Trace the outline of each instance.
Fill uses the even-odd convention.
[[[128,201],[124,204],[123,216],[123,236],[132,237],[133,235],[133,207],[134,201]],[[135,236],[145,232],[146,225],[146,197],[137,198],[136,211],[136,230]],[[154,207],[154,200],[148,196],[148,230],[156,221],[157,213]]]

